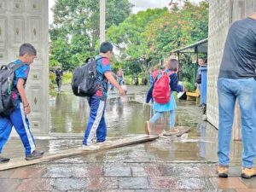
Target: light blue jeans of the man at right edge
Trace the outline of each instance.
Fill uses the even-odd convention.
[[[253,167],[256,157],[256,81],[251,79],[218,79],[218,161],[230,163],[230,139],[236,99],[241,109],[242,166]]]

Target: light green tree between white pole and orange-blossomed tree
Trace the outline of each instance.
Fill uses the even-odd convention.
[[[120,59],[126,68],[138,73],[148,63],[148,42],[146,30],[149,24],[161,18],[167,9],[148,9],[131,15],[119,26],[111,26],[107,39],[120,49]],[[138,66],[137,66],[138,65]]]

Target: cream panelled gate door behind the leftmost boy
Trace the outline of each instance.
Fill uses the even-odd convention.
[[[26,84],[28,119],[36,136],[49,134],[48,26],[47,0],[0,0],[0,65],[15,61],[21,44],[38,50]]]

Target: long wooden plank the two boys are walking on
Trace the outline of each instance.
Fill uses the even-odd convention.
[[[153,141],[154,139],[157,139],[157,138],[158,136],[145,136],[145,135],[137,136],[137,137],[126,137],[126,138],[111,141],[111,142],[95,144],[87,148],[82,148],[82,147],[69,148],[66,150],[61,150],[57,154],[44,154],[44,156],[38,160],[25,160],[24,157],[14,158],[14,159],[11,159],[8,163],[0,164],[0,171],[13,169],[20,166],[31,166],[41,162],[58,160],[58,159],[76,156],[80,154],[90,154],[92,152],[95,153],[97,151],[103,151],[110,148],[120,148],[120,147],[124,147],[131,144],[145,143],[145,142]]]

